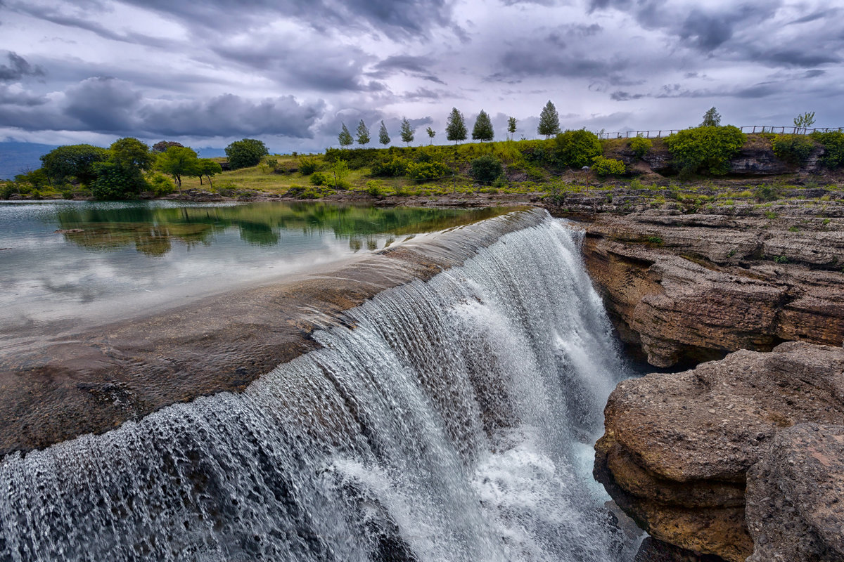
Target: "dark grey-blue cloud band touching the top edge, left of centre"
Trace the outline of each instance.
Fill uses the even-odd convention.
[[[431,26],[450,24],[446,0],[124,0],[139,8],[176,16],[189,25],[228,27],[232,21],[289,18],[315,29],[324,24],[360,27],[365,23],[391,36],[427,35]]]

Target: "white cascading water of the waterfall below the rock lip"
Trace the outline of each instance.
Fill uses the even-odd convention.
[[[624,377],[547,219],[241,394],[0,464],[0,560],[618,560],[589,471]]]

